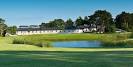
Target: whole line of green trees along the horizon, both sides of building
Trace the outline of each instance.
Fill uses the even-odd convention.
[[[78,17],[75,21],[69,18],[67,21],[63,19],[55,19],[49,23],[41,23],[41,29],[76,29],[80,26],[96,26],[96,32],[113,33],[116,29],[122,29],[127,32],[133,31],[133,13],[121,12],[115,18],[106,10],[97,10],[90,16],[84,18]],[[5,20],[0,18],[0,35],[4,36],[6,32],[15,34],[16,26],[8,27]]]

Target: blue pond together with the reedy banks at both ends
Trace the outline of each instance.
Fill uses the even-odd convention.
[[[55,42],[40,42],[40,43],[18,43],[13,44],[28,44],[38,47],[57,47],[57,48],[131,48],[133,47],[133,41],[121,41],[121,42],[102,42],[102,41],[55,41]]]

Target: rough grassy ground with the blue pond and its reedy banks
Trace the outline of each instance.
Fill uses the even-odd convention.
[[[30,35],[14,37],[13,44],[63,48],[133,47],[133,40],[128,38],[128,34]]]

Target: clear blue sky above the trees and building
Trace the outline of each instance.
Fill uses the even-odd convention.
[[[133,12],[133,0],[0,0],[0,18],[6,24],[38,25],[54,19],[75,20],[107,10],[113,17],[122,11]]]

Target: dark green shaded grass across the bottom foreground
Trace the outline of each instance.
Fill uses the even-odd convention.
[[[133,51],[0,51],[0,67],[132,67]]]

